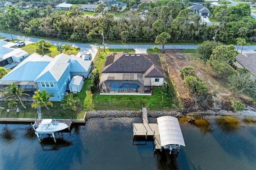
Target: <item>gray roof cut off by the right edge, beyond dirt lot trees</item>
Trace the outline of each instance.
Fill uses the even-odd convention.
[[[240,63],[243,67],[246,67],[256,76],[256,54],[238,54],[236,56],[236,61]]]

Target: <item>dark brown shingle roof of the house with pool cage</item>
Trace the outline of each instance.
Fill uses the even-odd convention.
[[[106,56],[102,73],[144,73],[145,77],[165,77],[158,54],[111,53]]]

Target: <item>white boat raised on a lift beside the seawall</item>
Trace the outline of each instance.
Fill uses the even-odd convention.
[[[36,121],[35,124],[32,125],[32,127],[35,130],[35,134],[38,137],[38,140],[41,142],[39,138],[39,134],[52,134],[54,138],[54,142],[56,142],[54,132],[58,132],[60,130],[64,130],[66,128],[69,128],[69,126],[66,123],[60,123],[52,121],[52,119],[43,119],[39,125],[37,125]]]

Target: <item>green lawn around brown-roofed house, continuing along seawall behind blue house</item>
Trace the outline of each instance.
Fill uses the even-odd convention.
[[[103,49],[98,51],[96,57],[94,58],[94,65],[96,68],[101,71],[104,59],[107,53],[118,52],[118,51],[129,51],[130,53],[135,53],[134,49],[106,49],[103,52]],[[100,52],[100,53],[99,53]],[[166,70],[165,70],[166,72]],[[166,72],[166,74],[168,74]],[[168,77],[168,76],[166,76]],[[166,79],[169,82],[168,78]],[[61,102],[53,102],[54,107],[50,107],[50,110],[47,110],[45,107],[42,107],[42,117],[43,118],[56,118],[56,119],[82,119],[86,111],[92,110],[135,110],[138,111],[141,109],[141,105],[147,106],[149,110],[172,110],[172,104],[174,101],[173,97],[168,99],[167,96],[167,87],[154,87],[153,94],[150,96],[133,96],[133,95],[99,95],[99,89],[95,94],[92,94],[89,88],[90,79],[84,81],[83,89],[80,93],[74,94],[75,97],[80,99],[80,103],[77,104],[77,111],[72,111],[70,109],[62,109],[60,107]],[[170,84],[170,83],[169,83]],[[170,86],[173,93],[173,87]],[[7,113],[6,109],[8,108],[7,101],[1,101],[1,107],[6,109],[0,109],[0,117],[5,118],[35,118],[37,117],[36,109],[31,108],[31,101],[24,101],[27,109],[24,109],[20,103],[18,107],[20,113]]]

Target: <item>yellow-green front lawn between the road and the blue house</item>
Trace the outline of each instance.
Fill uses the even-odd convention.
[[[21,46],[20,48],[25,50],[26,52],[28,52],[29,55],[31,55],[32,53],[37,53],[39,55],[43,55],[42,51],[38,50],[38,47],[36,46],[36,43],[31,43],[31,44],[28,44],[28,45],[24,45],[24,46]],[[79,51],[80,51],[80,48],[72,47],[71,51],[63,51],[63,53],[68,54],[68,52],[69,52],[69,55],[71,53],[76,55]],[[57,50],[56,46],[52,45],[49,48],[49,50],[44,50],[44,54],[48,55],[50,57],[55,57],[56,55],[59,55],[60,52]]]

